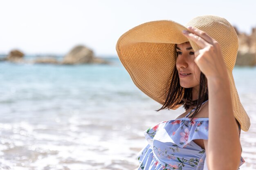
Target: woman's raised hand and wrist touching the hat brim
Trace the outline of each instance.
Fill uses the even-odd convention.
[[[202,48],[195,51],[195,63],[202,73],[207,79],[211,77],[227,78],[227,68],[220,44],[202,30],[192,27],[188,29],[189,31],[183,31],[183,34]]]

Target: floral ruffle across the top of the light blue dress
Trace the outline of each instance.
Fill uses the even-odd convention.
[[[153,139],[161,142],[172,142],[183,148],[194,139],[208,139],[209,118],[183,117],[162,121],[144,131],[144,135],[153,146]],[[156,133],[157,132],[157,133]]]

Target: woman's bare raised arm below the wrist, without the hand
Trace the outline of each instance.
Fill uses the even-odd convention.
[[[229,79],[220,76],[212,77],[207,81],[209,88],[207,165],[210,170],[237,170],[240,164],[241,149],[232,110]],[[220,167],[217,167],[218,165]]]

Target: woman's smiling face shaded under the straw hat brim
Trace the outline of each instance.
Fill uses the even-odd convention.
[[[176,68],[180,77],[180,86],[198,91],[201,71],[195,64],[195,55],[190,43],[177,44],[176,51]]]

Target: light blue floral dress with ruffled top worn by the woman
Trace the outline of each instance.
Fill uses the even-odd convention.
[[[207,170],[205,150],[193,140],[208,139],[209,118],[191,119],[190,113],[144,132],[148,144],[138,153],[138,170]],[[243,163],[241,157],[240,166]]]

